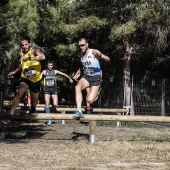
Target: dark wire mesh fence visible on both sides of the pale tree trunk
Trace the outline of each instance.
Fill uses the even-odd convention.
[[[168,78],[141,78],[131,80],[131,106],[135,115],[170,115],[170,80]],[[107,85],[106,85],[107,84]],[[119,88],[111,82],[105,83],[97,107],[122,108],[124,106],[124,84]]]

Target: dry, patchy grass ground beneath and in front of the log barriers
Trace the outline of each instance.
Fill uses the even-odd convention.
[[[169,170],[170,128],[99,122],[96,142],[79,121],[17,122],[0,142],[0,170]]]

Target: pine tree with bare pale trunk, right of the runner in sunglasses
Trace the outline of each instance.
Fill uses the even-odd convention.
[[[160,25],[162,14],[158,10],[161,5],[165,5],[166,2],[157,1],[130,1],[128,4],[126,1],[118,3],[121,8],[113,11],[113,15],[117,15],[116,22],[112,23],[110,39],[115,42],[116,40],[122,40],[124,47],[124,81],[125,81],[125,105],[130,106],[130,63],[135,55],[140,53],[144,54],[144,50],[147,52],[153,50],[155,43],[159,44],[159,38],[155,34],[155,29],[158,31],[156,24]],[[155,29],[153,29],[155,28]],[[154,41],[149,40],[152,37]],[[161,44],[160,44],[161,45]],[[156,48],[159,49],[161,46]],[[147,48],[147,49],[146,49]],[[139,58],[138,58],[139,60]]]

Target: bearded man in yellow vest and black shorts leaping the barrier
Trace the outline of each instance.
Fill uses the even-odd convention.
[[[40,92],[40,80],[41,75],[41,60],[45,60],[45,55],[38,49],[31,47],[29,37],[23,37],[21,39],[20,64],[18,67],[8,74],[8,77],[21,72],[21,81],[18,87],[18,92],[13,100],[11,110],[7,117],[2,120],[2,123],[8,124],[12,121],[16,107],[19,104],[21,97],[29,89],[31,95],[31,113],[36,112],[36,105],[38,104],[38,97]]]

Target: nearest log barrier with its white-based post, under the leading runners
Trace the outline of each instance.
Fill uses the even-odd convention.
[[[32,120],[73,120],[73,114],[45,114],[45,113],[33,113],[33,114],[15,114],[14,119],[32,119]],[[96,122],[97,121],[134,121],[134,122],[170,122],[170,116],[128,116],[128,115],[97,115],[89,114],[84,115],[84,118],[80,120],[89,120],[89,141],[95,142],[96,138]]]

